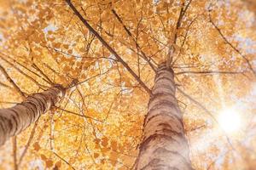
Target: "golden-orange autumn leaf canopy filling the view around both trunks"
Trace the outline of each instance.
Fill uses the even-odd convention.
[[[60,105],[1,146],[0,169],[131,169],[155,71],[167,60],[192,166],[253,170],[252,4],[0,0],[0,107],[55,84],[67,88]],[[224,123],[239,116],[236,131],[219,120],[227,110]]]

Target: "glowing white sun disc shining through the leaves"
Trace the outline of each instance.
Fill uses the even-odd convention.
[[[226,133],[236,133],[241,128],[241,116],[232,108],[220,111],[218,115],[218,122]]]

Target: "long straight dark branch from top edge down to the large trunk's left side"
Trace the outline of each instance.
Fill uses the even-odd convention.
[[[85,20],[84,17],[79,13],[78,9],[73,6],[73,3],[71,3],[71,0],[66,0],[66,2],[67,2],[67,4],[69,5],[69,7],[72,8],[73,13],[76,14],[76,15],[79,17],[79,20],[81,20],[81,21],[83,22],[84,26],[86,26],[86,27],[90,30],[90,32],[91,32],[92,34],[94,34],[94,35],[98,38],[98,40],[99,40],[100,42],[102,42],[102,45],[105,46],[106,48],[108,48],[108,51],[109,51],[111,54],[113,54],[113,55],[115,56],[115,58],[118,59],[119,62],[120,62],[122,65],[124,65],[124,67],[127,69],[127,71],[129,71],[129,72],[131,73],[132,77],[134,77],[134,78],[137,80],[137,82],[139,82],[139,83],[141,84],[141,86],[146,90],[146,92],[148,92],[148,94],[151,94],[151,90],[146,86],[146,84],[137,76],[137,74],[136,74],[134,71],[131,70],[131,67],[125,62],[125,60],[123,60],[123,59],[119,56],[119,54],[117,54],[117,53],[113,50],[113,48],[111,48],[111,47],[108,45],[108,42],[106,42],[106,41],[98,34],[98,32],[96,32],[96,31],[90,26],[90,24],[87,22],[87,20]]]

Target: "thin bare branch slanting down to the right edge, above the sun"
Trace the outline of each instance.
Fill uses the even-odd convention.
[[[240,54],[241,57],[243,59],[245,59],[245,61],[247,62],[247,65],[249,66],[250,70],[253,71],[254,76],[256,77],[256,71],[253,70],[253,65],[251,65],[249,59],[247,59],[247,57],[241,53],[241,51],[239,49],[237,49],[231,42],[229,42],[229,40],[224,37],[223,32],[218,28],[218,26],[213,22],[211,14],[209,14],[209,19],[210,22],[212,23],[212,26],[214,26],[214,28],[218,31],[218,34],[224,39],[224,42],[226,42],[227,44],[230,45],[230,48],[234,49],[236,51],[237,54]]]

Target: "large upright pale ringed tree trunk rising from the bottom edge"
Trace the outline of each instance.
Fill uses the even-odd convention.
[[[191,170],[189,145],[184,135],[183,115],[175,98],[172,69],[160,65],[154,81],[136,169]]]

